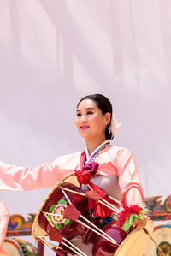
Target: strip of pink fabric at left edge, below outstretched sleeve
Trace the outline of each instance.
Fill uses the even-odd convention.
[[[9,211],[6,206],[0,202],[0,255],[9,255],[3,251],[3,241],[7,232],[7,226],[9,223]]]

